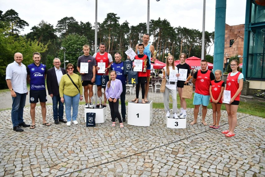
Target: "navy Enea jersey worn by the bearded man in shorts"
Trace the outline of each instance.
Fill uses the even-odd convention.
[[[32,63],[27,67],[27,74],[30,75],[30,90],[45,90],[46,65],[40,66]]]

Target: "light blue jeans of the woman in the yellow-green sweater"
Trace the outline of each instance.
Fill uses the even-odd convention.
[[[65,105],[65,114],[67,122],[70,122],[71,119],[77,120],[78,105],[80,94],[78,93],[75,96],[67,96],[63,94],[64,105]],[[71,116],[71,108],[73,107],[73,114]]]

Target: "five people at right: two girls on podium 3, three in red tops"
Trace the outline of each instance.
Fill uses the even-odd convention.
[[[175,67],[174,57],[172,55],[169,55],[166,58],[166,66],[163,68],[163,70],[165,70],[165,75],[163,75],[163,78],[166,79],[166,87],[165,91],[163,92],[166,117],[170,117],[169,95],[171,96],[173,103],[173,118],[184,119],[187,117],[187,104],[185,99],[182,98],[182,88],[184,87],[186,81],[169,81],[170,70],[187,69],[187,78],[191,75],[190,67],[187,63],[185,63],[185,59],[186,54],[180,54],[180,63]],[[221,105],[224,98],[223,92],[224,90],[230,91],[230,102],[225,103],[225,108],[228,114],[229,128],[222,132],[226,137],[235,136],[234,130],[237,122],[236,113],[239,105],[239,97],[243,88],[244,78],[243,74],[239,72],[238,60],[232,60],[230,62],[230,67],[232,69],[232,72],[228,74],[226,86],[224,81],[222,81],[221,70],[216,70],[214,71],[214,73],[211,72],[207,69],[206,60],[201,60],[201,69],[193,74],[192,79],[192,83],[195,86],[195,93],[193,98],[194,120],[190,123],[191,125],[197,123],[200,105],[202,105],[202,123],[204,125],[207,125],[207,123],[205,122],[205,117],[207,114],[207,106],[210,100],[212,104],[213,123],[209,127],[215,129],[219,128],[219,121],[221,118]],[[176,77],[179,77],[179,74],[176,74]],[[177,114],[177,88],[179,92],[181,107],[179,114]]]

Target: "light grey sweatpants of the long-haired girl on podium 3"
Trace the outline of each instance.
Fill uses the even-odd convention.
[[[177,111],[178,111],[178,108],[177,108],[177,90],[170,90],[167,87],[165,87],[165,91],[163,93],[165,112],[170,111],[170,109],[169,109],[169,94],[172,98],[172,103],[173,103],[173,112],[172,113],[177,113]]]

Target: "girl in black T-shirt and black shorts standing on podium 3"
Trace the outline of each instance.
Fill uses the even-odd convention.
[[[179,91],[179,97],[180,97],[180,114],[177,114],[178,116],[180,116],[179,118],[184,119],[187,117],[187,103],[185,98],[182,98],[182,89],[184,87],[184,82],[186,81],[186,79],[191,75],[190,73],[190,67],[187,63],[185,63],[186,60],[186,54],[181,53],[179,55],[179,60],[180,63],[177,65],[177,68],[179,69],[179,73],[181,71],[181,73],[184,73],[182,75],[185,75],[185,77],[183,79],[179,78],[178,79],[178,91]]]

